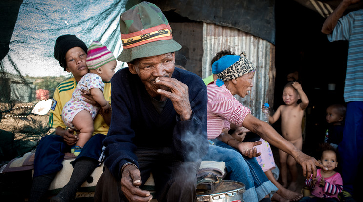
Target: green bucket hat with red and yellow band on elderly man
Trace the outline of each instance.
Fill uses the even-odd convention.
[[[123,50],[118,61],[175,52],[182,46],[173,40],[168,20],[155,4],[141,2],[120,15]]]

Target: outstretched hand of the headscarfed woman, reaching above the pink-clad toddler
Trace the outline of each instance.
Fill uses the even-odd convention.
[[[316,166],[321,167],[324,170],[328,170],[328,168],[326,168],[321,162],[302,153],[302,151],[299,151],[299,154],[294,157],[294,159],[302,166],[303,175],[306,177],[306,179],[310,178],[311,174],[313,174],[311,179],[316,178]]]

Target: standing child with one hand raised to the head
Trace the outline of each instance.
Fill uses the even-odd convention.
[[[309,104],[309,99],[302,90],[300,83],[288,82],[282,94],[283,102],[286,105],[281,105],[277,108],[274,115],[269,117],[271,124],[275,123],[281,116],[281,132],[282,136],[294,144],[298,149],[302,150],[302,118],[304,111]],[[301,99],[301,103],[297,101]],[[289,190],[295,191],[297,186],[297,167],[296,161],[292,156],[279,149],[280,156],[280,176],[282,186],[287,187],[288,169],[291,174],[291,183]]]

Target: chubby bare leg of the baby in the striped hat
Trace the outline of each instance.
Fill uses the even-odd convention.
[[[76,146],[83,147],[84,144],[86,144],[86,142],[92,137],[92,116],[88,111],[82,110],[73,118],[72,124],[80,131],[78,134],[79,140],[77,141]]]

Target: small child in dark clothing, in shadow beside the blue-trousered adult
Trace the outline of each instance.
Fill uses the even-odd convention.
[[[344,131],[344,118],[346,107],[343,104],[333,104],[326,108],[326,122],[329,123],[325,132],[325,143],[329,143],[335,149],[342,141]]]

